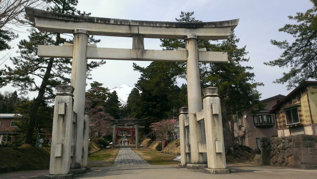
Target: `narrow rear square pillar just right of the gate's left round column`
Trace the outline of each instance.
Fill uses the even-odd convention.
[[[85,123],[84,123],[84,139],[83,139],[83,155],[82,162],[83,167],[87,169],[87,160],[88,160],[88,139],[89,139],[89,108],[85,108]]]

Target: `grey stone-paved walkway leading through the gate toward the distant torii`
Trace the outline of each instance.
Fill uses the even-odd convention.
[[[127,145],[120,146],[119,153],[113,166],[150,165]]]

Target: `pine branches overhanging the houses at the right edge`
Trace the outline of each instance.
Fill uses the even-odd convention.
[[[290,67],[289,72],[276,79],[273,83],[288,83],[288,89],[310,78],[317,79],[317,1],[311,0],[314,7],[305,13],[297,12],[296,16],[288,16],[299,24],[286,24],[279,31],[286,32],[295,37],[290,44],[287,40],[271,40],[273,45],[284,49],[280,58],[264,63],[269,66]]]

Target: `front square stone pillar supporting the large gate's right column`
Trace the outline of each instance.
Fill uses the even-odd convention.
[[[231,169],[226,167],[226,156],[223,142],[221,104],[218,88],[208,87],[204,92],[204,120],[206,132],[206,149],[208,169],[205,173],[228,174]]]

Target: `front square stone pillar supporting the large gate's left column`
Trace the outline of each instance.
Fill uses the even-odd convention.
[[[69,174],[74,88],[69,85],[56,88],[49,175],[45,178],[70,178],[74,175]]]

